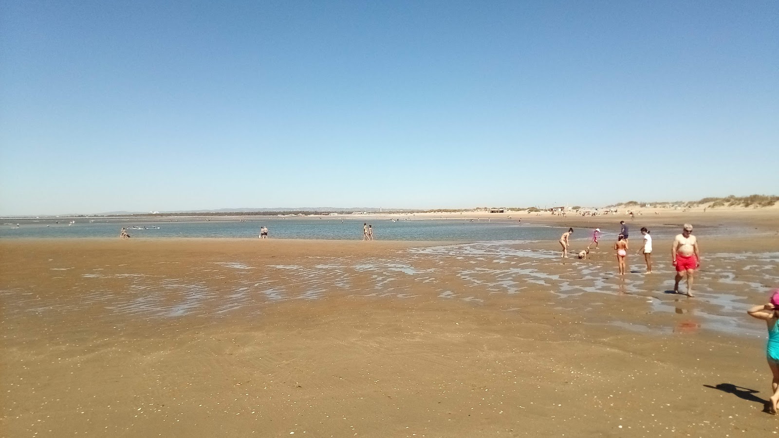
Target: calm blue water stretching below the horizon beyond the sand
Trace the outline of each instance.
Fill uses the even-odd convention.
[[[70,220],[5,220],[0,224],[0,238],[118,238],[122,227],[152,226],[160,229],[128,230],[132,238],[257,238],[259,228],[265,225],[270,238],[318,238],[356,239],[362,238],[362,224],[365,219],[312,219],[280,218],[263,220],[256,218],[248,222],[238,220],[179,220],[160,219],[99,219],[90,223],[88,219]],[[520,224],[517,221],[467,222],[454,219],[431,219],[393,222],[389,219],[368,220],[373,226],[376,240],[428,240],[463,241],[479,240],[557,240],[565,231],[563,228],[545,225]],[[16,227],[16,224],[19,227]],[[48,225],[48,226],[47,226]],[[619,230],[618,230],[619,231]],[[580,229],[576,238],[589,238],[591,230]],[[654,233],[653,233],[654,234]],[[607,234],[608,235],[608,234]]]

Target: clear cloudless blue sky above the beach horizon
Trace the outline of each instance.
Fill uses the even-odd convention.
[[[0,214],[779,193],[779,2],[0,0]]]

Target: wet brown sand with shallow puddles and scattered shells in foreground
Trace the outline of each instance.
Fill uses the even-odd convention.
[[[699,238],[697,298],[662,238],[0,242],[0,433],[773,436],[779,238]]]

